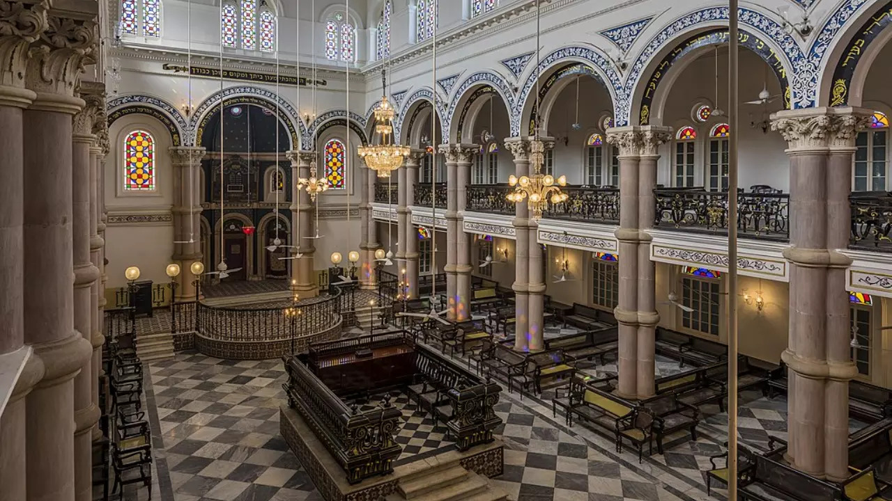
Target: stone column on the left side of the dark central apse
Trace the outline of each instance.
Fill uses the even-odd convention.
[[[176,170],[177,185],[174,188],[173,207],[173,259],[179,265],[177,277],[178,301],[195,300],[195,279],[192,263],[202,256],[202,198],[201,168],[204,148],[196,146],[172,146],[169,148],[170,163]]]

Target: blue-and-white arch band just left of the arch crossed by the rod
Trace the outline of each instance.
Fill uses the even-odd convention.
[[[524,86],[517,94],[514,111],[511,114],[511,136],[521,136],[522,124],[528,123],[533,116],[533,104],[536,99],[535,95],[531,94],[535,89],[537,77],[541,76],[543,80],[550,78],[556,72],[556,68],[566,62],[588,65],[596,78],[607,88],[614,110],[628,105],[622,78],[606,55],[591,47],[561,47],[542,58],[538,67],[530,70],[524,80]]]

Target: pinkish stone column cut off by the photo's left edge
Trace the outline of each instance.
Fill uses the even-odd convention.
[[[30,350],[24,336],[24,242],[22,144],[23,109],[36,94],[25,88],[29,44],[46,29],[45,4],[21,4],[2,0],[3,24],[12,29],[0,36],[0,355],[19,352],[27,357]],[[10,14],[12,12],[12,14]],[[27,499],[26,397],[44,376],[40,357],[28,358],[12,396],[0,413],[0,501]]]

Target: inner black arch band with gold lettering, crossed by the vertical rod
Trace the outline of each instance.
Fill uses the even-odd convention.
[[[648,125],[650,123],[650,113],[652,106],[655,104],[655,97],[664,78],[672,70],[673,66],[687,58],[691,53],[698,51],[707,46],[724,45],[728,43],[730,33],[728,29],[713,29],[704,33],[699,33],[687,38],[681,44],[675,45],[665,57],[657,63],[653,72],[647,80],[647,85],[642,87],[643,94],[639,96],[639,123],[640,125]],[[787,70],[784,67],[784,61],[780,54],[777,53],[769,42],[763,40],[756,33],[750,33],[746,29],[739,32],[740,46],[746,47],[753,53],[756,53],[764,62],[771,66],[774,76],[780,82],[781,94],[783,95],[784,109],[790,109],[791,90],[789,79],[787,78]],[[660,100],[656,102],[658,107],[662,106]]]

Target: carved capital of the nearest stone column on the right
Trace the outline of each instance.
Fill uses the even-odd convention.
[[[859,130],[869,128],[872,112],[863,108],[808,108],[772,113],[772,130],[780,132],[788,152],[853,148]]]

